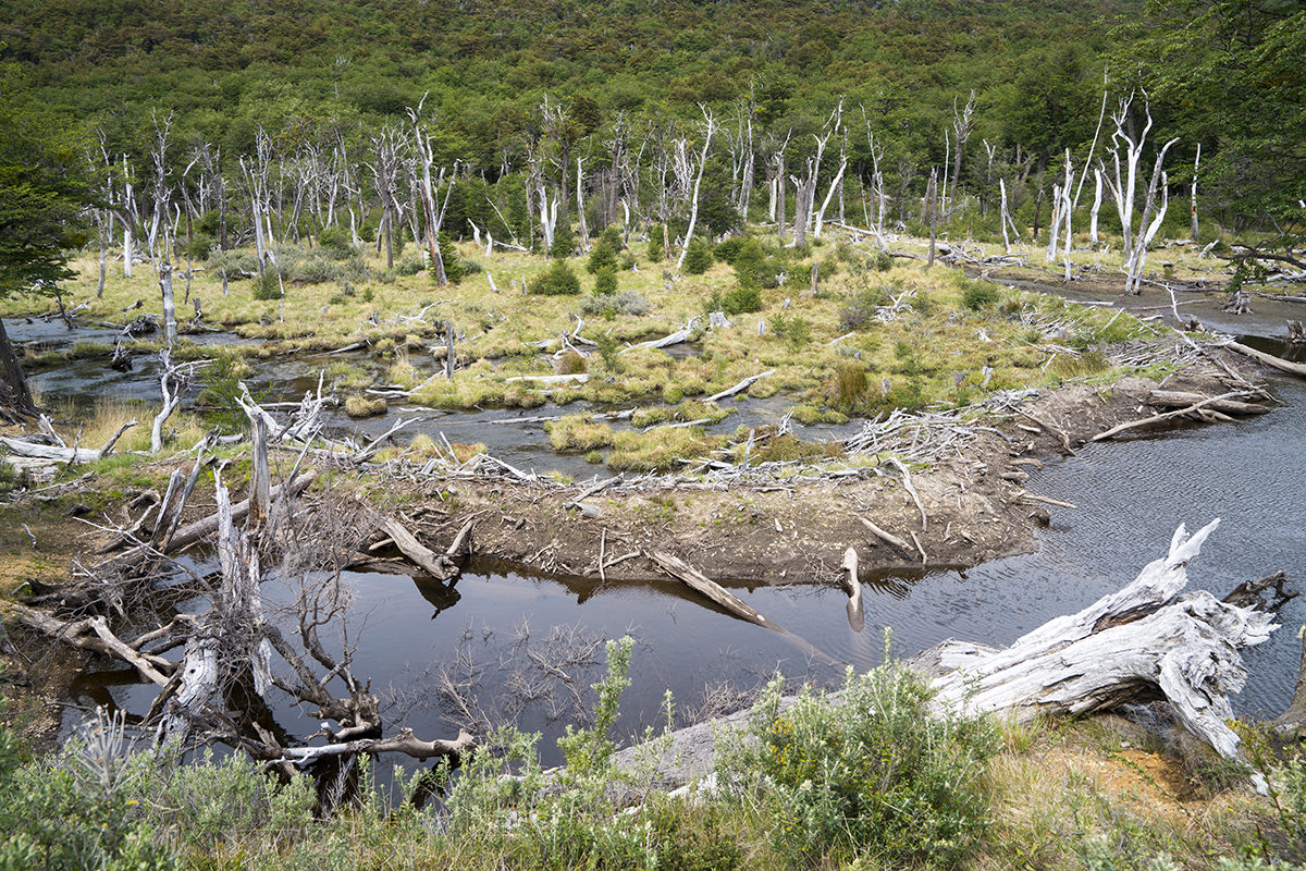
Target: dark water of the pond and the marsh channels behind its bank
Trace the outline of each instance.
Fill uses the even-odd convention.
[[[1238,326],[1243,341],[1285,353],[1281,343],[1266,338],[1277,332],[1273,321],[1251,319]],[[108,330],[78,328],[71,336],[61,324],[16,320],[7,321],[7,328],[16,343],[39,342],[42,347],[111,341]],[[259,373],[252,381],[270,390],[272,400],[298,400],[316,383],[323,360],[332,359],[340,358],[253,362]],[[78,405],[102,397],[149,401],[158,390],[144,358],[127,375],[90,360],[31,380],[46,401],[74,397]],[[572,721],[575,695],[555,684],[551,695],[532,699],[529,684],[539,674],[532,674],[532,661],[524,654],[526,649],[558,654],[558,645],[549,646],[551,633],[629,633],[637,640],[632,686],[623,696],[618,723],[624,736],[662,722],[666,689],[674,695],[678,714],[684,714],[703,704],[707,687],[729,683],[751,688],[777,670],[790,678],[832,682],[842,666],[831,661],[859,670],[872,667],[883,658],[884,631],[889,628],[895,656],[910,656],[948,637],[1010,644],[1047,619],[1079,610],[1132,580],[1143,565],[1164,555],[1179,522],[1196,529],[1213,517],[1222,520],[1190,567],[1190,586],[1222,595],[1241,581],[1284,569],[1302,588],[1306,528],[1298,512],[1306,504],[1306,385],[1271,377],[1269,388],[1284,405],[1260,418],[1089,444],[1075,456],[1049,461],[1032,473],[1028,488],[1072,501],[1077,509],[1053,508],[1051,526],[1037,534],[1034,552],[965,571],[863,577],[866,627],[861,633],[849,628],[845,595],[836,588],[722,581],[820,657],[802,642],[716,610],[673,581],[605,585],[474,562],[452,590],[404,576],[346,573],[354,601],[350,640],[358,645],[354,673],[371,678],[374,689],[392,700],[388,722],[404,723],[427,738],[453,736],[462,720],[434,691],[436,674],[449,667],[461,679],[474,675],[483,709],[511,712],[518,727],[542,733],[539,748],[545,763],[552,764],[559,761],[554,739]],[[785,397],[746,400],[718,427],[729,431],[774,422],[791,404]],[[482,441],[491,453],[521,467],[580,479],[602,474],[602,467],[552,453],[538,423],[505,422],[576,410],[424,410],[418,413],[428,419],[406,432],[443,431],[451,441]],[[409,411],[392,406],[387,417],[396,414],[407,417]],[[500,423],[492,423],[496,420]],[[388,426],[385,418],[359,423],[340,415],[332,420],[337,432],[350,431],[355,437]],[[801,435],[837,437],[858,426],[812,427]],[[265,590],[274,602],[286,597],[276,580],[265,584]],[[1281,612],[1282,628],[1245,654],[1251,676],[1234,699],[1239,714],[1273,717],[1286,705],[1297,678],[1301,642],[1296,635],[1303,618],[1306,597],[1289,602]],[[584,691],[601,667],[580,669],[575,688]],[[132,671],[112,670],[84,675],[72,692],[78,705],[111,704],[138,714],[148,708],[154,688],[140,684]],[[277,716],[291,734],[315,727],[289,708]],[[76,716],[65,717],[65,729],[73,720]]]

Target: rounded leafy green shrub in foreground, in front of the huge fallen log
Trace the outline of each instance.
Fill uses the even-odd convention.
[[[804,691],[782,712],[780,686],[754,709],[756,744],[718,747],[718,780],[769,810],[781,855],[952,867],[980,845],[987,722],[930,710],[926,683],[893,663],[849,669],[838,704]]]

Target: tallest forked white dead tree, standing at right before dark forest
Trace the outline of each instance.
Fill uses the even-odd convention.
[[[1162,145],[1157,153],[1156,163],[1152,168],[1152,180],[1148,184],[1144,198],[1143,215],[1138,221],[1138,225],[1135,225],[1134,206],[1139,165],[1143,159],[1147,135],[1152,129],[1152,108],[1144,99],[1143,111],[1147,115],[1147,121],[1141,132],[1135,136],[1130,132],[1130,108],[1132,104],[1134,94],[1130,94],[1127,98],[1121,99],[1117,111],[1111,114],[1111,120],[1115,123],[1115,132],[1111,133],[1111,148],[1109,149],[1111,165],[1102,168],[1106,179],[1106,189],[1110,192],[1111,198],[1115,200],[1115,210],[1121,218],[1121,234],[1123,236],[1122,255],[1124,257],[1126,276],[1124,290],[1126,293],[1136,294],[1139,293],[1143,277],[1143,266],[1147,261],[1147,247],[1156,236],[1157,230],[1161,229],[1161,222],[1165,219],[1165,210],[1170,202],[1169,193],[1164,189],[1166,180],[1164,172],[1165,153],[1170,150],[1171,145],[1178,142],[1178,138],[1173,138]],[[1162,189],[1162,204],[1160,214],[1153,221],[1152,212],[1156,209],[1158,185]]]

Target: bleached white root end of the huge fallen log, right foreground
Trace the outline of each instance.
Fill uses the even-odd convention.
[[[1239,650],[1266,641],[1277,624],[1272,614],[1205,590],[1181,594],[1188,562],[1218,522],[1191,538],[1181,525],[1169,554],[1128,586],[1049,620],[1004,650],[944,641],[912,663],[938,675],[936,705],[1006,712],[1017,722],[1164,697],[1192,734],[1237,759],[1238,735],[1225,723],[1233,718],[1229,693],[1247,679]]]

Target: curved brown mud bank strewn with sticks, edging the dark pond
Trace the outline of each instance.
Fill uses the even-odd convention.
[[[981,432],[963,456],[910,475],[919,507],[892,465],[882,475],[795,486],[708,490],[605,490],[584,499],[575,487],[509,486],[490,481],[407,483],[397,495],[419,534],[443,550],[475,516],[474,554],[529,569],[607,578],[658,577],[641,554],[674,554],[709,577],[747,585],[835,584],[844,551],[855,547],[862,577],[961,567],[1023,552],[1049,507],[1027,495],[1021,473],[1066,454],[1122,422],[1149,417],[1157,381],[1127,377],[1110,387],[1071,385],[1042,396],[1025,413]],[[1168,390],[1226,392],[1204,375],[1175,375]],[[597,511],[594,511],[597,509]],[[923,516],[922,516],[923,515]],[[861,518],[902,539],[883,541]]]

